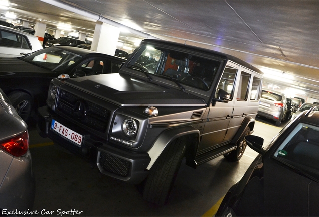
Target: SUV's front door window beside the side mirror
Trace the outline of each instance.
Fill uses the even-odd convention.
[[[222,75],[222,78],[220,79],[220,82],[218,84],[218,89],[222,89],[229,93],[230,95],[229,100],[233,99],[234,83],[235,83],[237,71],[238,71],[237,68],[227,65]],[[218,98],[217,94],[218,94],[218,91],[216,92],[216,96],[215,96],[216,98]]]

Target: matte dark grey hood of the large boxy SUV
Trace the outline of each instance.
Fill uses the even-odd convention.
[[[120,106],[206,106],[203,99],[123,74],[72,78],[65,84]]]

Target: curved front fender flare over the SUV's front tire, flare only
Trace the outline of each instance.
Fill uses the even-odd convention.
[[[149,157],[151,158],[150,163],[147,166],[147,169],[149,170],[159,155],[163,152],[165,147],[170,144],[174,139],[180,138],[183,136],[187,136],[190,134],[194,134],[197,136],[195,138],[197,144],[199,144],[200,141],[200,132],[198,129],[194,128],[193,126],[184,126],[184,127],[176,127],[176,128],[170,128],[165,131],[163,131],[159,136],[156,138],[155,142],[152,145],[152,148],[147,152]],[[197,150],[197,147],[196,147]]]

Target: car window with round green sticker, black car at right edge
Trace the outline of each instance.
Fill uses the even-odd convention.
[[[319,127],[299,123],[273,157],[319,180]]]

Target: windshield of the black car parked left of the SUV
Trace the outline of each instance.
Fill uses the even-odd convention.
[[[54,46],[23,56],[21,60],[54,72],[61,72],[80,58],[82,55]]]

